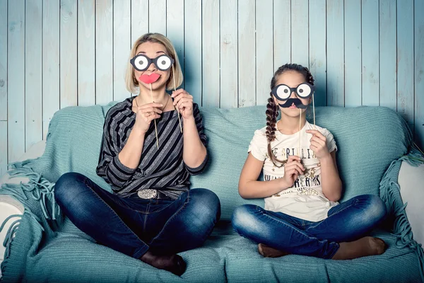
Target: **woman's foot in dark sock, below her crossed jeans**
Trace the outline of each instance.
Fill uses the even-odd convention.
[[[178,276],[181,276],[186,269],[186,263],[179,255],[155,255],[148,250],[141,256],[140,260],[146,262],[148,265],[160,270],[167,270]]]

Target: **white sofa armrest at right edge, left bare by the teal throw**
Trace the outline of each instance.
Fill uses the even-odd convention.
[[[424,243],[424,164],[418,167],[402,162],[398,178],[401,187],[401,197],[406,205],[406,215],[413,233],[413,239]]]

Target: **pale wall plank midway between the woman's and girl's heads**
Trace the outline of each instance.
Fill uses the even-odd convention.
[[[237,0],[220,2],[220,107],[237,108]]]

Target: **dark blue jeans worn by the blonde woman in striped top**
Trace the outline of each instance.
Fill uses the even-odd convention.
[[[133,258],[147,250],[170,255],[199,247],[220,218],[220,201],[206,189],[189,190],[177,200],[144,200],[119,197],[84,175],[65,173],[54,196],[78,229]]]

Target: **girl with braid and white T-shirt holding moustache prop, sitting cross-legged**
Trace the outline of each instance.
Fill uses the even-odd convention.
[[[285,64],[274,74],[266,127],[254,132],[239,181],[240,195],[264,197],[265,207],[237,207],[232,226],[269,258],[380,255],[384,241],[365,235],[384,219],[385,205],[375,195],[338,203],[342,183],[336,142],[327,129],[305,117],[313,92],[314,79],[306,67]],[[257,180],[261,171],[264,180]]]

